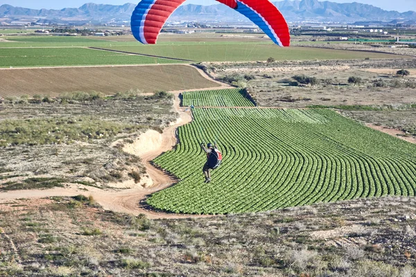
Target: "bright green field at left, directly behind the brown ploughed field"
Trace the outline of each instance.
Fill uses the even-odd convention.
[[[2,48],[0,67],[177,63],[175,60],[128,55],[89,48]]]

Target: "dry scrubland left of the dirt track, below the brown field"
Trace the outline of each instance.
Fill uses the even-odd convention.
[[[123,143],[146,129],[162,132],[177,117],[171,109],[164,93],[6,100],[0,104],[0,190],[139,183],[146,170],[139,157],[121,150]]]

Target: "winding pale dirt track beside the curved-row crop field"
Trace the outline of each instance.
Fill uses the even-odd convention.
[[[205,78],[214,81],[219,84],[218,87],[206,88],[206,89],[229,89],[231,87],[226,86],[222,82],[217,82],[209,78],[204,71],[198,69],[200,74]],[[155,193],[164,188],[168,188],[177,182],[173,177],[166,175],[162,170],[159,170],[150,164],[150,161],[155,159],[163,152],[171,150],[177,143],[176,129],[182,125],[185,125],[192,120],[191,111],[186,107],[180,107],[179,94],[184,91],[198,91],[201,89],[189,89],[182,91],[171,91],[175,96],[173,101],[173,109],[179,114],[176,123],[164,129],[162,134],[162,142],[155,147],[143,152],[140,157],[141,161],[146,167],[147,173],[152,179],[153,184],[149,188],[132,188],[126,190],[101,190],[99,188],[85,187],[85,186],[70,186],[69,188],[53,188],[50,190],[15,190],[7,193],[0,193],[0,205],[10,202],[14,199],[21,198],[43,198],[53,196],[75,196],[75,195],[92,195],[98,204],[101,204],[105,210],[116,211],[120,213],[130,213],[132,215],[145,214],[151,219],[161,218],[189,218],[189,217],[205,217],[205,215],[182,215],[175,213],[160,213],[157,211],[150,211],[141,202],[152,193]],[[202,174],[202,172],[201,172]],[[88,192],[85,192],[87,188]]]

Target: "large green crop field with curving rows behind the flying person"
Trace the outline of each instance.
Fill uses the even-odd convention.
[[[154,163],[180,178],[148,204],[175,213],[243,213],[357,197],[415,195],[416,146],[329,109],[196,108],[180,144]],[[199,143],[223,164],[204,184]]]

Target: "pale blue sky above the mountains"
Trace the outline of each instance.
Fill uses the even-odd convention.
[[[279,1],[279,0],[273,0]],[[415,10],[416,11],[416,0],[330,0],[333,2],[338,3],[351,3],[351,2],[358,2],[358,3],[367,3],[379,8],[383,8],[384,10],[398,10],[399,12],[406,12],[408,10]],[[100,4],[112,4],[112,5],[122,5],[124,3],[138,3],[139,1],[132,1],[132,0],[71,0],[69,1],[62,1],[62,0],[0,0],[0,6],[2,4],[10,4],[12,6],[24,7],[24,8],[53,8],[53,9],[61,9],[61,8],[78,8],[82,6],[84,3],[100,3]],[[187,3],[196,3],[202,5],[210,5],[212,3],[216,3],[214,0],[187,0]]]

